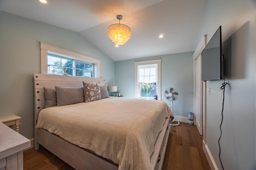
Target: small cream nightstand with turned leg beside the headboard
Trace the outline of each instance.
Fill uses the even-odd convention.
[[[11,115],[6,117],[0,117],[0,122],[12,128],[14,131],[20,133],[21,117],[17,115]]]

